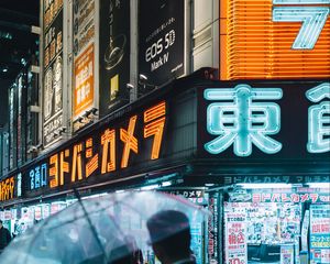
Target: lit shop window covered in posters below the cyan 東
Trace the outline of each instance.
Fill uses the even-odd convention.
[[[297,243],[299,243],[300,237],[301,205],[289,202],[224,202],[226,240],[228,240],[226,243],[228,245],[233,243],[238,248],[239,239],[234,240],[234,235],[229,237],[229,234],[235,234],[233,232],[235,221],[230,222],[228,220],[230,217],[231,220],[244,221],[243,226],[239,224],[241,229],[244,227],[246,230],[244,237],[246,243],[246,258],[244,261],[246,262],[244,263],[298,263],[299,256],[295,253],[299,252],[299,244]],[[228,245],[226,245],[228,251],[226,260],[231,260],[228,255],[232,251]],[[243,253],[240,252],[237,255],[234,255],[235,262],[242,263]]]

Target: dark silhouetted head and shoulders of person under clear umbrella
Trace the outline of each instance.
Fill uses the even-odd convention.
[[[163,264],[195,264],[190,251],[189,219],[183,212],[164,210],[152,216],[146,227],[155,255]]]

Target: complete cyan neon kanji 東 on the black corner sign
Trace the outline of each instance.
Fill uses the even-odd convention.
[[[204,97],[222,101],[213,102],[207,109],[207,130],[219,135],[205,144],[207,152],[219,154],[233,144],[235,155],[249,156],[252,143],[267,154],[280,151],[282,144],[267,136],[279,131],[279,106],[260,100],[280,99],[282,89],[238,85],[235,88],[206,89]]]

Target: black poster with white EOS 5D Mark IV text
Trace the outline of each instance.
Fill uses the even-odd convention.
[[[184,74],[184,0],[140,1],[139,72],[147,76],[147,86]]]

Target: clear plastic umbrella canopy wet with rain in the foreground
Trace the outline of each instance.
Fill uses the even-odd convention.
[[[202,222],[208,215],[187,199],[158,191],[112,193],[84,199],[15,238],[0,263],[112,263],[135,246],[147,246],[146,221],[163,210],[184,212],[194,223]],[[174,224],[152,239],[162,240],[184,228]]]

